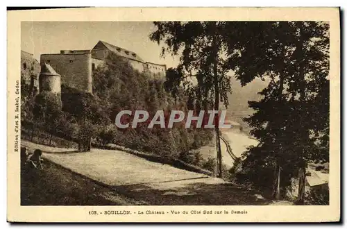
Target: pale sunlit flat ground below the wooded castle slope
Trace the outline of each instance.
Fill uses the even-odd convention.
[[[43,157],[110,187],[205,177],[124,151],[92,149],[85,153],[44,153]]]

